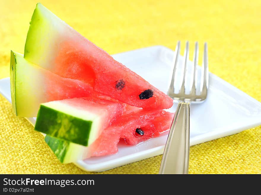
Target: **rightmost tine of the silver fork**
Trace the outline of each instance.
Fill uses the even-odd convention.
[[[207,88],[209,86],[209,62],[208,62],[208,45],[204,44],[204,55],[203,55],[203,64],[201,68],[201,83],[200,89],[201,94],[206,95]]]

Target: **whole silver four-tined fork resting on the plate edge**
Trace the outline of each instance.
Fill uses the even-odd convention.
[[[174,80],[177,70],[177,62],[180,52],[180,41],[176,46],[174,55],[174,68],[171,77],[171,82],[168,89],[168,95],[179,101],[174,119],[168,134],[163,158],[160,165],[160,174],[187,174],[189,164],[189,148],[190,148],[190,103],[203,102],[207,97],[209,70],[208,70],[208,47],[204,44],[203,64],[201,68],[200,94],[196,94],[196,73],[198,64],[198,42],[195,43],[195,51],[193,57],[192,73],[193,83],[189,94],[185,94],[185,75],[187,61],[189,58],[189,42],[186,42],[183,59],[183,80],[178,93],[174,92]]]

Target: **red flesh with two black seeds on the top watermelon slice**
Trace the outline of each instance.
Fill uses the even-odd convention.
[[[95,91],[129,105],[144,109],[165,109],[173,105],[170,97],[87,39],[84,45],[75,40],[60,44],[55,59],[55,69],[51,70],[54,73],[87,82]]]

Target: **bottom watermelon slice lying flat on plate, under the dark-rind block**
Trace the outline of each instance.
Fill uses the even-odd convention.
[[[51,136],[44,140],[62,163],[71,163],[91,156],[114,154],[118,151],[117,145],[120,138],[128,138],[128,144],[138,144],[142,141],[157,137],[160,133],[169,130],[173,113],[159,111],[136,111],[123,115],[111,126],[106,128],[89,147],[75,144]],[[162,124],[165,124],[162,126]],[[136,135],[136,129],[141,129],[144,134]],[[144,136],[143,139],[141,137]]]

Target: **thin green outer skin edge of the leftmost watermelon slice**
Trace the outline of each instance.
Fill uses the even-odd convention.
[[[10,58],[10,87],[11,87],[11,99],[12,99],[12,107],[15,111],[15,114],[17,116],[16,112],[16,106],[15,106],[15,67],[16,67],[16,59],[15,59],[15,53],[11,50],[11,58]]]

